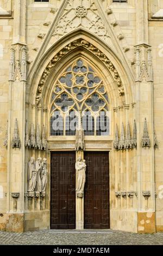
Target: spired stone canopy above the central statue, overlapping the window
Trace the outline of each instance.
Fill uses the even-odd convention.
[[[78,124],[76,130],[76,145],[75,150],[79,151],[79,149],[85,150],[85,142],[84,142],[84,130],[82,126],[82,113],[78,113]]]

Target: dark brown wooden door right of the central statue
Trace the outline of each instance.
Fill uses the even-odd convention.
[[[85,152],[84,228],[110,228],[109,153]]]

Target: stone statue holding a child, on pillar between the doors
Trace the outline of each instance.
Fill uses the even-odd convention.
[[[83,194],[84,194],[85,171],[86,171],[85,160],[82,161],[82,157],[78,157],[78,160],[76,162],[77,197],[83,197]]]

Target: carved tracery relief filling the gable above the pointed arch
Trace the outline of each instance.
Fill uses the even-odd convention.
[[[71,32],[72,30],[82,27],[91,33],[95,33],[103,40],[109,38],[108,31],[98,15],[95,3],[90,3],[89,7],[84,5],[77,6],[75,1],[68,1],[64,14],[60,17],[53,36],[59,39],[61,36]],[[76,6],[75,6],[76,5]],[[85,19],[87,22],[85,22]]]

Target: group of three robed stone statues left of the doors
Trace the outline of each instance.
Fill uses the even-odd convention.
[[[28,192],[45,193],[48,180],[47,159],[39,157],[36,161],[34,157],[28,162],[27,181]]]

